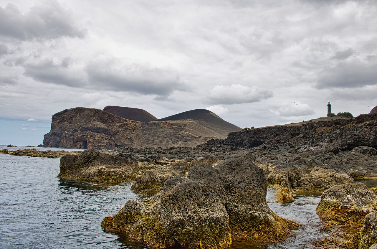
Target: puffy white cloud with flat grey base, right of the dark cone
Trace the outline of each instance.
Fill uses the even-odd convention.
[[[256,86],[248,87],[240,84],[231,86],[215,86],[208,94],[210,104],[241,104],[259,102],[273,96],[272,91],[261,90]]]

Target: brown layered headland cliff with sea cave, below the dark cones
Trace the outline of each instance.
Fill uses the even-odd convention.
[[[205,120],[133,121],[99,109],[73,108],[52,116],[51,131],[44,135],[43,147],[195,147],[210,139],[224,139],[228,132],[238,129]]]

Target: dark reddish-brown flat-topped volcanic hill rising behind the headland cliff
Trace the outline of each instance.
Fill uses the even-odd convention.
[[[149,112],[138,109],[138,108],[130,108],[130,107],[122,107],[122,106],[106,106],[104,109],[106,112],[110,112],[116,116],[126,118],[129,120],[135,121],[156,121],[157,118],[150,114]]]

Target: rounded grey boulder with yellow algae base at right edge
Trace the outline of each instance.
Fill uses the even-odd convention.
[[[324,221],[338,221],[349,226],[362,226],[365,215],[377,208],[377,195],[363,183],[333,186],[323,192],[317,214]]]

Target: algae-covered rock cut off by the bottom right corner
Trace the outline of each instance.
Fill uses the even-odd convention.
[[[348,244],[349,249],[377,248],[377,212],[365,216],[362,229],[355,234]]]

